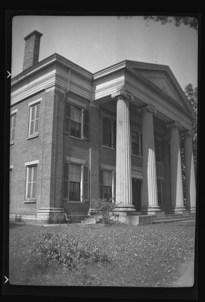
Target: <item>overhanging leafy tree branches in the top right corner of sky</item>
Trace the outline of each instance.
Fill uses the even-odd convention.
[[[144,16],[145,20],[152,20],[155,22],[161,22],[162,25],[168,22],[174,22],[178,27],[180,24],[188,25],[198,32],[198,20],[194,17],[183,17],[183,16]]]

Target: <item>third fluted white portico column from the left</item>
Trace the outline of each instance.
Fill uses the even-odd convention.
[[[168,124],[170,128],[170,160],[171,160],[171,213],[183,213],[183,186],[181,172],[181,154],[179,143],[179,128],[177,122]]]

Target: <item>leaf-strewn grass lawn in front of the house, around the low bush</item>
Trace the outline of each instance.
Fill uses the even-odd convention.
[[[79,263],[74,270],[60,265],[45,268],[40,257],[31,256],[36,238],[45,230],[95,244],[112,260]],[[18,285],[170,287],[180,267],[194,255],[193,222],[143,226],[11,223],[9,233],[9,282]]]

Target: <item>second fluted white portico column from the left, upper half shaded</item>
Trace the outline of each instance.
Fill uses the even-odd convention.
[[[142,156],[143,156],[143,197],[142,214],[155,215],[160,211],[157,203],[156,159],[154,146],[153,112],[151,105],[139,108],[142,112]]]

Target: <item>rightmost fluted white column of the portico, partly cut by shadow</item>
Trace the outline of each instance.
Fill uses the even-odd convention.
[[[186,198],[187,210],[196,211],[196,183],[194,175],[194,156],[192,145],[192,132],[187,131],[185,137],[185,177],[186,177]]]

